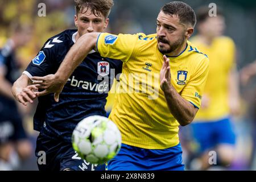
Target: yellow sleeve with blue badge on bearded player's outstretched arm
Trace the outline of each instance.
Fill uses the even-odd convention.
[[[138,35],[102,33],[98,36],[96,49],[102,57],[122,60],[124,63],[133,55]]]

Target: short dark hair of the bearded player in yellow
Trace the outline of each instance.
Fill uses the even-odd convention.
[[[163,13],[177,15],[181,23],[196,25],[195,11],[187,3],[181,1],[172,1],[164,5],[161,9]]]

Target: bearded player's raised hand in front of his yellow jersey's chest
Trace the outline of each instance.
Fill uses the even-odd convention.
[[[171,72],[170,72],[170,59],[163,56],[163,66],[160,71],[160,86],[163,91],[166,91],[171,88]]]

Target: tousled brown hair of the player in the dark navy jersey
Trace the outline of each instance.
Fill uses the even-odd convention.
[[[113,0],[75,0],[76,14],[85,13],[90,9],[94,15],[102,14],[107,18],[113,6]]]

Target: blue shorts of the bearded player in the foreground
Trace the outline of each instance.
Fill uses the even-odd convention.
[[[108,163],[109,171],[184,171],[180,144],[163,150],[150,150],[123,144]]]

